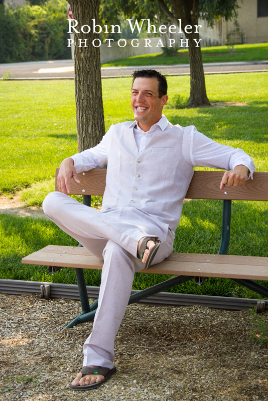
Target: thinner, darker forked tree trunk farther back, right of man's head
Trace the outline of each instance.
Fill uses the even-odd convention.
[[[189,39],[189,60],[190,60],[190,97],[188,100],[189,107],[197,107],[202,105],[210,106],[210,102],[206,93],[205,75],[202,63],[201,48],[196,47],[196,42],[200,39],[199,33],[195,33],[195,25],[198,25],[198,5],[199,0],[171,0],[174,13],[171,13],[164,0],[158,0],[158,4],[169,19],[178,25],[178,20],[182,21],[182,29],[186,25],[191,25],[193,30],[191,34],[185,36]]]

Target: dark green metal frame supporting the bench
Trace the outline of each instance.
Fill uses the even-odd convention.
[[[83,196],[83,204],[87,206],[91,206],[91,196],[84,195]],[[222,227],[221,227],[221,243],[219,248],[219,255],[226,255],[229,248],[230,241],[230,225],[231,225],[231,200],[223,200],[223,208],[222,208]],[[79,244],[79,246],[82,246]],[[72,322],[70,322],[64,329],[73,327],[79,323],[89,322],[94,319],[96,309],[98,307],[98,300],[89,305],[85,277],[83,269],[75,269],[77,286],[79,290],[79,296],[81,301],[82,312],[78,315]],[[158,294],[161,291],[169,290],[170,288],[185,283],[186,281],[194,279],[194,276],[177,276],[173,277],[169,280],[163,281],[162,283],[156,284],[150,288],[146,288],[145,290],[139,291],[135,294],[130,295],[128,305],[139,302],[142,299],[148,298],[152,295]],[[240,279],[232,279],[236,283],[239,283],[258,294],[268,298],[268,288],[256,283],[252,280],[240,280]],[[64,330],[63,329],[63,330]]]

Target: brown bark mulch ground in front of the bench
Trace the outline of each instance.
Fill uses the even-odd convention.
[[[60,329],[79,302],[0,294],[0,305],[1,400],[268,400],[268,349],[249,340],[247,311],[130,305],[115,340],[117,373],[74,392],[92,322]]]

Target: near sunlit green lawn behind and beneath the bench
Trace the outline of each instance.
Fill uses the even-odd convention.
[[[111,123],[132,120],[130,82],[130,78],[103,80],[106,129]],[[170,100],[164,113],[173,124],[194,124],[220,143],[242,147],[253,157],[257,170],[268,170],[268,73],[206,77],[211,101],[244,104],[238,107],[178,108],[189,96],[189,77],[169,77],[168,83]],[[20,188],[28,204],[40,204],[45,194],[53,190],[55,167],[64,157],[77,151],[74,83],[2,81],[0,104],[0,192],[12,196]],[[266,203],[233,202],[232,216],[230,253],[267,257]],[[185,203],[175,251],[217,252],[220,227],[221,202],[192,200]],[[0,278],[75,283],[73,269],[50,276],[44,266],[21,264],[23,256],[48,244],[76,245],[76,242],[51,222],[0,215]],[[143,289],[165,278],[137,274],[133,288]],[[86,271],[86,281],[88,285],[99,285],[100,272]],[[226,279],[209,279],[200,287],[192,282],[185,283],[172,291],[257,297]]]

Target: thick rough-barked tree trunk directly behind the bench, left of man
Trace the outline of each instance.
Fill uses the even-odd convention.
[[[100,0],[69,0],[73,18],[78,21],[74,32],[74,81],[78,152],[97,145],[105,133],[101,93],[100,49],[92,41],[98,34],[92,33],[93,22],[98,24]],[[83,25],[90,26],[90,32],[81,31]],[[87,29],[84,29],[87,32]],[[79,47],[81,39],[81,47]],[[87,39],[84,47],[84,40]],[[96,41],[98,42],[98,41]],[[98,43],[96,43],[98,45]]]

